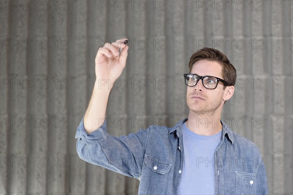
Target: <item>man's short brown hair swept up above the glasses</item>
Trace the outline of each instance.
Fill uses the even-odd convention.
[[[203,49],[200,49],[196,51],[189,59],[189,73],[192,70],[193,65],[195,62],[201,60],[201,59],[207,59],[209,61],[216,61],[219,64],[222,65],[222,75],[223,79],[226,80],[230,86],[234,86],[236,82],[236,69],[235,67],[230,63],[230,60],[225,56],[222,52],[219,50],[205,47]]]

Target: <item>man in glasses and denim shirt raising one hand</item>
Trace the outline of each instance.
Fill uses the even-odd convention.
[[[221,120],[223,105],[234,92],[236,70],[218,50],[204,48],[190,58],[189,74],[184,75],[188,119],[171,128],[150,126],[123,137],[106,133],[111,89],[98,86],[98,81],[113,83],[121,75],[128,50],[125,40],[106,43],[97,53],[96,83],[76,133],[79,156],[139,179],[141,195],[268,194],[257,147]]]

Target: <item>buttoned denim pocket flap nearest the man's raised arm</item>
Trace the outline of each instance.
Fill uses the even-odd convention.
[[[154,173],[167,174],[172,166],[172,164],[158,160],[152,156],[145,155],[144,162],[146,166],[150,168]]]

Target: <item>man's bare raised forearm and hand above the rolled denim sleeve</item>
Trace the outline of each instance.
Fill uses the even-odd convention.
[[[125,40],[127,39],[105,43],[104,47],[98,50],[95,59],[96,81],[84,114],[84,128],[87,134],[97,130],[105,121],[108,98],[113,87],[113,84],[108,83],[114,83],[126,65],[128,46],[124,44]],[[119,49],[122,50],[120,55]]]

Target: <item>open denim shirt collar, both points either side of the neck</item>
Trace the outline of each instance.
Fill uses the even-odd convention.
[[[176,131],[177,137],[182,137],[182,125],[186,122],[188,118],[180,120],[174,127],[171,127],[169,130],[169,134]],[[231,144],[234,143],[233,133],[230,127],[221,119],[222,123],[222,140],[224,139],[225,135],[230,139]]]

